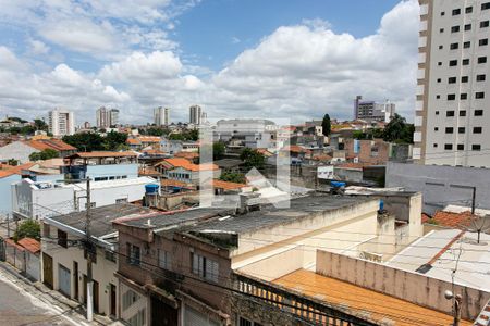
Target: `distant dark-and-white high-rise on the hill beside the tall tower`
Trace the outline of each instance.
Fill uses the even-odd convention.
[[[395,104],[390,101],[379,103],[376,101],[362,101],[357,96],[354,100],[354,120],[380,121],[389,123],[395,114]]]

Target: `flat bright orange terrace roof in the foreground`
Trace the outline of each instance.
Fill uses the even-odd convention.
[[[273,283],[328,304],[343,306],[352,313],[357,312],[359,316],[369,316],[375,323],[390,319],[393,326],[413,326],[450,325],[453,322],[451,315],[310,271],[298,269]],[[460,325],[470,326],[473,323],[461,321]]]

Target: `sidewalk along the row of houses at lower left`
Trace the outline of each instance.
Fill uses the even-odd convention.
[[[85,308],[79,302],[71,300],[58,291],[51,290],[44,284],[33,283],[28,278],[20,274],[20,272],[5,262],[0,262],[0,276],[19,287],[20,290],[25,291],[33,297],[39,299],[49,306],[54,308],[56,311],[63,315],[72,324],[76,325],[93,325],[93,326],[119,326],[123,325],[121,322],[114,322],[108,317],[95,315],[94,321],[88,323],[85,319]]]

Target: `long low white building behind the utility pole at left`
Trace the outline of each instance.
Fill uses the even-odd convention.
[[[113,179],[90,184],[90,206],[143,199],[145,185],[156,183],[150,177]],[[25,178],[12,184],[12,212],[23,218],[45,218],[84,211],[87,205],[86,184],[33,181]]]

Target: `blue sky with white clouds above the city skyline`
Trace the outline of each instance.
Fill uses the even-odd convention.
[[[0,116],[99,106],[121,123],[324,113],[353,100],[396,103],[413,120],[416,0],[0,0]]]

